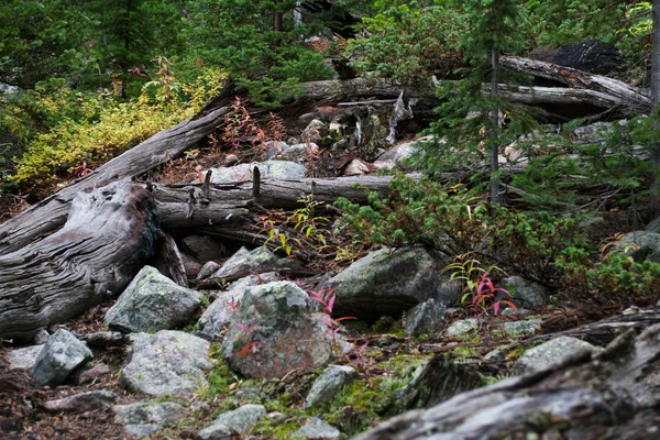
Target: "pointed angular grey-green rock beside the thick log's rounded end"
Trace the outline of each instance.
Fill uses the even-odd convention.
[[[144,266],[106,314],[106,326],[127,333],[154,332],[190,321],[202,295]]]

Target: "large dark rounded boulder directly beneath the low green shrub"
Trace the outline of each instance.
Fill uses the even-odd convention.
[[[424,248],[383,249],[351,264],[319,288],[336,289],[336,316],[375,321],[384,315],[398,316],[430,298],[443,305],[455,302],[461,285],[442,272],[450,263]]]

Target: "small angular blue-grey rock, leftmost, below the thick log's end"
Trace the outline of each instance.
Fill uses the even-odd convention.
[[[85,342],[69,331],[59,329],[38,353],[32,367],[32,377],[40,385],[57,386],[91,358],[91,351]]]

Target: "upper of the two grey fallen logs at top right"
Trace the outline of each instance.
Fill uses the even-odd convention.
[[[650,91],[632,87],[627,82],[602,75],[592,75],[571,67],[559,66],[537,59],[503,56],[501,63],[513,70],[530,74],[573,89],[593,90],[608,96],[608,100],[618,102],[628,113],[647,112],[651,107]]]

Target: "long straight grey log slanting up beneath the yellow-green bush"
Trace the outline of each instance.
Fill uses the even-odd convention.
[[[70,202],[80,190],[89,190],[124,177],[140,176],[176,157],[220,124],[229,111],[219,108],[208,114],[179,123],[147,139],[89,175],[61,189],[13,219],[0,224],[0,255],[20,250],[61,228]]]

